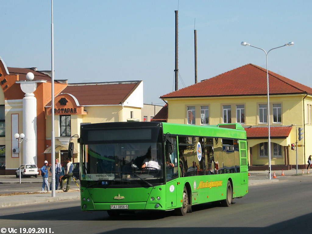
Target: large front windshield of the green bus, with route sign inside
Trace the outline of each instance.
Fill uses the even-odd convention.
[[[159,128],[88,130],[81,141],[85,180],[127,186],[164,183]]]

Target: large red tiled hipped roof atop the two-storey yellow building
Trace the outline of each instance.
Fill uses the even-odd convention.
[[[250,63],[168,93],[161,96],[161,98],[267,95],[266,80],[266,69]],[[269,90],[271,95],[312,94],[310,87],[272,71],[269,71]]]

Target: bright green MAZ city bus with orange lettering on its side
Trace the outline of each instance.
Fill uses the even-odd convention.
[[[82,211],[185,215],[196,204],[230,206],[248,192],[240,124],[83,124],[78,142]]]

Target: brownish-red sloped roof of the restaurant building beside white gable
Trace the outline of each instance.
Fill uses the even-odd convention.
[[[141,82],[135,80],[68,84],[62,93],[74,95],[80,105],[119,105]]]

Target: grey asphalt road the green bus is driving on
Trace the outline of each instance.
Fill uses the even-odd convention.
[[[311,179],[291,176],[250,186],[231,207],[197,205],[184,217],[135,212],[113,219],[106,212],[81,212],[80,200],[6,207],[0,208],[0,228],[17,233],[20,227],[51,228],[51,233],[309,233]]]

